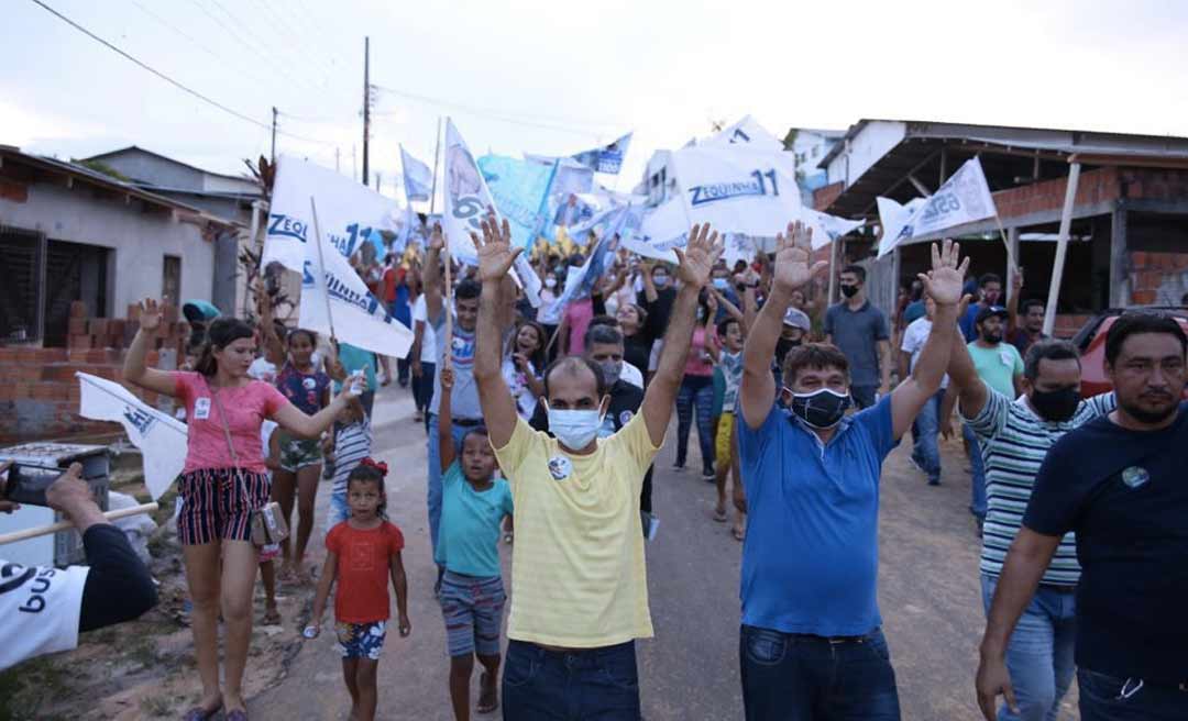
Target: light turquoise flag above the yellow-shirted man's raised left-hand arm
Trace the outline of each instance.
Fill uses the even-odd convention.
[[[504,156],[479,158],[479,170],[491,189],[495,208],[511,226],[512,246],[532,247],[556,169],[556,163],[542,165]]]

